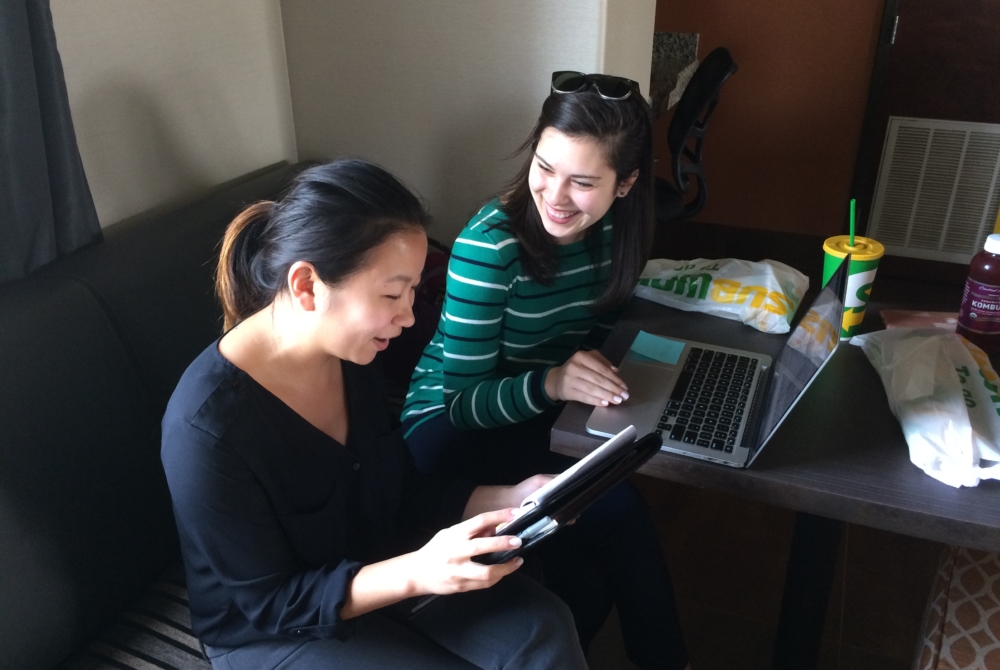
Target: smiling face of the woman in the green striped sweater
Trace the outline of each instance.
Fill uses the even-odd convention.
[[[572,244],[599,221],[635,177],[619,184],[596,140],[542,131],[528,171],[528,187],[546,232],[556,244]]]

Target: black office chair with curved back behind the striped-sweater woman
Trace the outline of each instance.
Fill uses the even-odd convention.
[[[690,219],[705,206],[708,190],[701,163],[702,142],[708,120],[719,102],[719,89],[734,72],[736,63],[729,51],[719,47],[705,57],[684,89],[667,130],[674,183],[662,177],[656,178],[657,223]],[[694,140],[693,148],[688,146],[689,140]],[[691,202],[685,202],[692,178],[698,185],[697,196]]]

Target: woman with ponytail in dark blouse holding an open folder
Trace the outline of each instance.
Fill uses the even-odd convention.
[[[519,543],[492,530],[547,477],[416,472],[369,365],[413,323],[426,221],[390,174],[342,161],[226,231],[224,333],[178,383],[161,450],[216,670],[586,667],[521,559],[472,560]],[[427,594],[454,595],[414,610]]]

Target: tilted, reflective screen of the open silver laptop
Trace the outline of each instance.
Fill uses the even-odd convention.
[[[775,357],[757,430],[758,439],[751,449],[771,437],[840,342],[847,266],[847,262],[841,263]]]

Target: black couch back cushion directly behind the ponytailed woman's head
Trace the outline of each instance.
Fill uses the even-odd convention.
[[[222,333],[214,293],[218,246],[246,205],[276,197],[308,163],[226,184],[197,203],[104,230],[104,242],[39,272],[70,277],[100,296],[162,415],[188,364]]]

